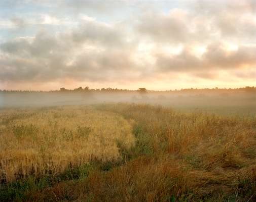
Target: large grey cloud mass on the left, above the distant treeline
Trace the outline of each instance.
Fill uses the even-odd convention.
[[[41,31],[0,45],[2,81],[89,81],[133,79],[137,65],[132,42],[122,30],[97,21],[83,21],[71,32]]]

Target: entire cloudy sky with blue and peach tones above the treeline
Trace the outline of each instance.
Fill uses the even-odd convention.
[[[256,86],[256,1],[0,1],[0,89]]]

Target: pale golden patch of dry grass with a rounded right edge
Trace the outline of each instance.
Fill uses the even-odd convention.
[[[134,142],[120,115],[89,107],[5,110],[0,116],[0,177],[8,182],[54,175],[92,158],[117,160],[117,142]]]

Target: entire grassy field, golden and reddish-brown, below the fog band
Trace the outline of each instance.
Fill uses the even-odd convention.
[[[254,113],[3,108],[0,138],[0,201],[256,200]]]

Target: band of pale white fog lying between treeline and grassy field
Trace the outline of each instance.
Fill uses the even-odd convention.
[[[256,112],[254,89],[184,89],[174,91],[82,90],[1,91],[0,108],[94,105],[107,103],[151,104],[189,111]],[[210,110],[209,110],[210,109]]]

